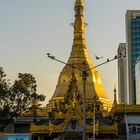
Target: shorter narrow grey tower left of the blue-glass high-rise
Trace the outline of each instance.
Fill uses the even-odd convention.
[[[118,101],[127,103],[127,74],[126,74],[126,43],[120,43],[118,47]]]

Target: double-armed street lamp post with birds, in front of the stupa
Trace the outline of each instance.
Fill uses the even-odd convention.
[[[106,63],[109,63],[109,62],[111,62],[111,61],[114,61],[114,60],[116,60],[116,59],[119,59],[120,57],[122,57],[122,55],[119,55],[119,56],[116,55],[114,58],[112,58],[112,59],[107,59],[105,62],[100,63],[100,64],[98,64],[98,65],[96,65],[96,66],[94,66],[94,67],[91,67],[91,68],[89,68],[89,69],[86,69],[86,63],[85,63],[85,61],[82,62],[82,64],[83,64],[83,69],[79,69],[78,67],[75,67],[75,66],[73,66],[73,65],[71,65],[71,64],[68,64],[68,63],[66,63],[66,62],[63,62],[63,61],[61,61],[61,60],[55,58],[55,56],[50,55],[50,53],[47,53],[47,56],[48,56],[50,59],[52,59],[52,60],[55,60],[55,61],[57,61],[57,62],[59,62],[59,63],[68,65],[68,66],[70,66],[71,68],[75,68],[75,69],[79,70],[80,72],[82,72],[82,80],[83,80],[83,137],[82,137],[82,139],[83,139],[83,140],[86,140],[86,80],[87,80],[87,76],[88,76],[88,71],[91,70],[91,69],[93,69],[93,68],[97,68],[97,67],[99,67],[99,66],[102,66],[102,65],[104,65],[104,64],[106,64]],[[95,109],[95,108],[94,108],[94,109]],[[93,112],[93,115],[94,115],[94,113],[95,113],[95,112]],[[93,117],[93,119],[94,119],[94,123],[95,123],[95,116]],[[94,125],[94,124],[93,124],[93,125]],[[93,126],[93,127],[94,127],[94,129],[95,129],[95,126]],[[94,131],[95,131],[95,130],[94,130]],[[94,132],[93,132],[93,134],[94,134]],[[95,135],[95,134],[94,134],[94,135]],[[95,139],[94,136],[93,136],[93,139]]]

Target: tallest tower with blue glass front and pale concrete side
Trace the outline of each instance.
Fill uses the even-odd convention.
[[[126,12],[126,45],[129,103],[136,104],[135,64],[140,55],[140,10]]]

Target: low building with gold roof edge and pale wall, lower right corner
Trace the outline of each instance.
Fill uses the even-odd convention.
[[[118,140],[140,139],[140,105],[116,104],[112,115],[118,122]]]

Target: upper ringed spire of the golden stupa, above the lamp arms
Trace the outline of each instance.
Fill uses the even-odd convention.
[[[69,57],[68,63],[81,63],[89,59],[88,52],[86,49],[86,41],[84,37],[85,32],[85,22],[84,22],[84,1],[76,0],[75,1],[75,21],[73,24],[73,46],[71,55]]]

